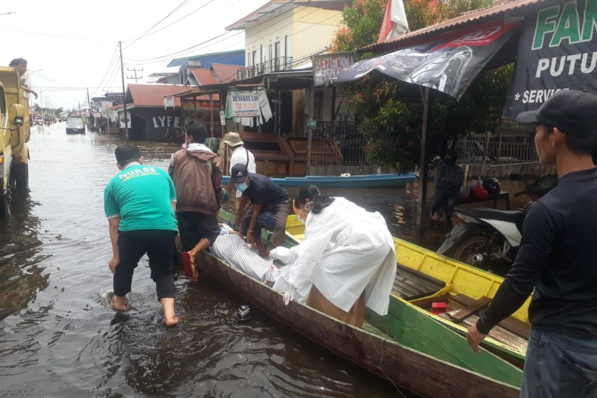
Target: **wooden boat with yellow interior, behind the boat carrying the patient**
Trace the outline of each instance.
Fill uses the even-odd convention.
[[[294,215],[288,217],[287,233],[297,240],[303,237],[304,224]],[[496,294],[503,278],[396,237],[394,245],[398,270],[389,314],[380,317],[370,313],[370,319],[392,337],[404,334],[403,323],[416,325],[413,326],[415,332],[409,334],[415,344],[413,347],[426,344],[426,338],[437,338],[435,329],[438,324],[465,336],[469,326],[478,319],[478,313]],[[445,303],[447,312],[433,314],[433,303]],[[529,303],[530,298],[511,317],[492,329],[484,341],[485,348],[521,369],[531,331]]]

